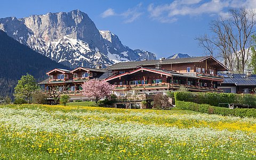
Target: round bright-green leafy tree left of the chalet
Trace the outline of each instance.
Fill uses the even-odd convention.
[[[18,81],[17,86],[14,88],[15,99],[26,99],[28,103],[31,102],[33,92],[39,89],[36,79],[27,73],[22,76]]]

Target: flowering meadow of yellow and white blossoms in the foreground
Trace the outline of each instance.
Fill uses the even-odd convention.
[[[187,110],[0,107],[0,159],[255,159],[256,119]]]

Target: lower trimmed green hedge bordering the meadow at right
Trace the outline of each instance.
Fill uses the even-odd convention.
[[[177,108],[199,111],[206,114],[218,114],[223,116],[237,117],[256,117],[256,109],[229,109],[223,107],[215,107],[207,104],[197,104],[194,102],[175,101]]]

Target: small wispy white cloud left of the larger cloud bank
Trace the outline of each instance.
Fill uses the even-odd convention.
[[[131,23],[139,19],[140,16],[143,14],[143,12],[141,12],[141,6],[142,6],[142,3],[139,3],[135,7],[127,9],[125,12],[119,13],[119,14],[115,13],[113,9],[108,9],[105,12],[101,13],[101,17],[106,18],[106,17],[116,15],[116,16],[122,17],[125,23]]]

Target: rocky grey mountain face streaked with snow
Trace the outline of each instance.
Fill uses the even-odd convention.
[[[124,46],[110,31],[98,30],[86,13],[71,12],[0,19],[0,29],[31,49],[66,66],[104,67],[120,61],[156,59],[154,53]]]

